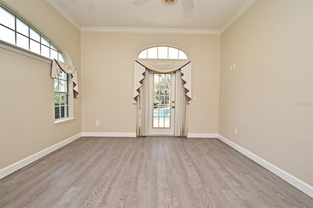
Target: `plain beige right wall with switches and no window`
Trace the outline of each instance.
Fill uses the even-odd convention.
[[[220,135],[311,186],[312,8],[257,1],[224,32],[219,105]]]

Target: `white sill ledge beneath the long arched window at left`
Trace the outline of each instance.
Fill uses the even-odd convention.
[[[7,49],[9,51],[13,51],[15,53],[18,53],[18,54],[21,54],[21,55],[24,55],[24,56],[27,56],[27,57],[30,57],[33,59],[37,59],[39,61],[52,64],[52,59],[46,58],[45,56],[42,56],[40,54],[37,54],[37,53],[31,52],[29,50],[23,49],[19,46],[10,44],[8,42],[4,42],[4,41],[0,40],[0,48],[4,48],[4,49]]]

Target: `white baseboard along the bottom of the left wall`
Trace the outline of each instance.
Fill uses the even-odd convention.
[[[22,159],[22,160],[20,160],[20,161],[18,161],[16,163],[12,164],[10,166],[6,166],[6,167],[0,169],[0,179],[5,177],[5,176],[7,176],[7,175],[9,175],[9,174],[11,174],[11,173],[13,173],[16,170],[22,168],[23,166],[27,166],[28,164],[30,164],[30,163],[32,163],[32,162],[34,162],[34,161],[44,157],[45,155],[47,155],[47,154],[57,150],[58,148],[61,148],[62,146],[65,146],[68,143],[73,142],[74,140],[76,140],[76,139],[78,139],[80,137],[82,137],[81,133],[76,134],[75,136],[72,136],[72,137],[70,137],[70,138],[68,138],[68,139],[66,139],[66,140],[64,140],[62,142],[59,142],[58,144],[50,146],[50,147],[48,147],[48,148],[46,148],[44,150],[41,150],[40,152],[37,152],[37,153],[35,153],[35,154],[33,154],[33,155],[29,156],[29,157],[26,157],[26,158],[24,158],[24,159]]]

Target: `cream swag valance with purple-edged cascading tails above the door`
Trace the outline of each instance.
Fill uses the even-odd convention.
[[[188,104],[191,102],[191,62],[158,62],[158,61],[134,61],[134,89],[133,104],[137,103],[139,88],[145,78],[146,68],[162,73],[173,72],[181,69],[181,79],[185,88]]]

